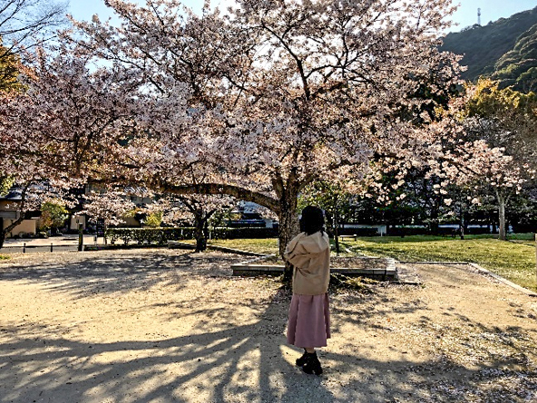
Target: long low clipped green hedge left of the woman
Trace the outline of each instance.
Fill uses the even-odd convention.
[[[278,230],[272,228],[215,228],[210,230],[210,238],[216,240],[274,238]],[[121,240],[124,243],[164,245],[168,241],[194,239],[193,227],[181,228],[109,228],[106,237],[112,243]]]

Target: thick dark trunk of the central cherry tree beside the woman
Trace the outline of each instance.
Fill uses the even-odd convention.
[[[288,242],[299,232],[298,225],[298,192],[286,192],[280,200],[280,211],[278,214],[278,242],[279,255],[283,258]],[[290,286],[293,278],[293,266],[286,262],[283,274],[283,283]]]

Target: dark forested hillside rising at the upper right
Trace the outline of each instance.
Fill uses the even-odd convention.
[[[488,25],[474,25],[444,37],[443,50],[463,54],[463,78],[490,76],[505,87],[537,90],[537,7]]]

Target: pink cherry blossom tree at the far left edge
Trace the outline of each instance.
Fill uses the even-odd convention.
[[[68,193],[89,179],[112,176],[104,161],[114,159],[139,107],[129,88],[141,99],[123,70],[90,71],[73,48],[37,56],[19,75],[25,91],[0,94],[0,173],[21,190],[18,219],[3,236],[47,197],[71,200]]]

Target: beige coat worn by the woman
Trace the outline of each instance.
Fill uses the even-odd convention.
[[[293,238],[284,253],[291,263],[293,293],[301,295],[324,294],[330,281],[330,242],[325,232],[308,235],[299,233]]]

